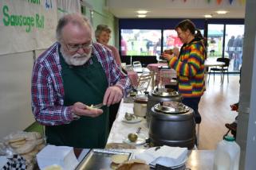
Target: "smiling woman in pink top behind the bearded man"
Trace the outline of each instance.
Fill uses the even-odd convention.
[[[104,46],[109,48],[115,57],[116,64],[121,65],[120,55],[117,48],[112,45],[108,45],[110,33],[111,29],[109,29],[108,25],[97,25],[95,30],[96,41],[100,44],[104,44]]]

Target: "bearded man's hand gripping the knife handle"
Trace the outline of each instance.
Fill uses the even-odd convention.
[[[117,86],[108,87],[104,95],[103,104],[110,106],[116,102],[120,102],[122,98],[123,98],[123,91],[120,89],[120,87],[117,87]]]

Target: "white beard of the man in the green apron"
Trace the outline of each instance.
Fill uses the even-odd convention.
[[[61,54],[67,64],[80,66],[84,65],[91,58],[92,50],[90,50],[90,52],[87,54],[84,53],[81,55],[76,53],[73,56],[70,56],[64,52],[63,48],[61,48]]]

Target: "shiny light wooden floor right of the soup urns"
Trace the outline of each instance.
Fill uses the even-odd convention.
[[[225,123],[234,122],[237,112],[230,110],[230,104],[238,102],[239,75],[230,75],[227,83],[220,83],[220,75],[210,75],[209,83],[206,82],[205,91],[200,103],[199,113],[202,122],[199,126],[199,149],[215,149],[216,144],[222,140],[227,129]]]

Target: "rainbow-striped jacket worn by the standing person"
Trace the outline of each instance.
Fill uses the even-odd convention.
[[[171,68],[177,71],[179,93],[184,98],[200,97],[205,91],[204,82],[205,48],[203,40],[195,38],[183,44],[179,57],[169,61]]]

